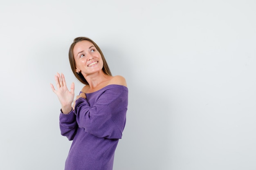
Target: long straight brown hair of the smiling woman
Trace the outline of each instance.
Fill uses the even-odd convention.
[[[85,77],[83,77],[82,73],[81,72],[76,73],[76,62],[75,62],[75,59],[74,59],[73,49],[74,49],[74,46],[76,45],[76,43],[80,42],[80,41],[90,41],[95,46],[97,51],[99,51],[99,53],[101,55],[101,58],[102,58],[102,61],[103,61],[102,71],[106,75],[112,75],[111,72],[110,72],[110,69],[108,67],[108,63],[107,63],[107,61],[106,61],[106,59],[105,59],[101,49],[99,48],[99,46],[94,41],[92,41],[90,38],[87,38],[87,37],[77,37],[77,38],[74,39],[73,43],[70,45],[70,50],[69,50],[69,53],[68,53],[68,57],[69,57],[69,60],[70,60],[70,66],[71,66],[72,72],[74,73],[76,78],[80,82],[82,82],[83,84],[88,85],[88,82],[86,81]]]

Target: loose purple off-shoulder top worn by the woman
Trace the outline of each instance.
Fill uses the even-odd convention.
[[[65,170],[112,170],[127,106],[128,88],[111,84],[77,99],[69,114],[60,114],[61,135],[73,140]]]

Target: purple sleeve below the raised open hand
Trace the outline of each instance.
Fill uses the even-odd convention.
[[[68,140],[73,140],[76,134],[76,129],[78,125],[76,123],[76,115],[74,110],[70,111],[68,114],[60,114],[60,130],[61,135],[67,137]]]

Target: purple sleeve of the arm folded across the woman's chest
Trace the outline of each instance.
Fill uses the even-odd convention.
[[[103,91],[93,106],[84,98],[76,100],[75,114],[79,128],[97,137],[121,139],[126,124],[128,91],[110,88]]]

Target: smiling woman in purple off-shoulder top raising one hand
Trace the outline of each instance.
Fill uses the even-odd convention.
[[[126,124],[126,80],[111,75],[99,46],[89,38],[74,39],[69,60],[74,75],[85,84],[79,95],[74,100],[74,83],[69,91],[63,74],[55,75],[57,89],[51,84],[61,103],[61,135],[73,140],[65,170],[112,170]]]

